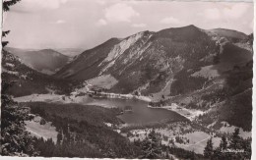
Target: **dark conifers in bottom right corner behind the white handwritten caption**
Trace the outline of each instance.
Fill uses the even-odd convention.
[[[222,137],[220,146],[214,148],[213,139],[207,141],[204,157],[211,160],[240,160],[251,157],[251,138],[243,139],[239,136],[239,129],[235,129],[228,141]]]

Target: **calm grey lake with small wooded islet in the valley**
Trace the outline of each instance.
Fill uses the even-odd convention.
[[[124,112],[118,116],[127,124],[145,125],[149,123],[182,121],[184,117],[165,109],[148,108],[148,102],[137,99],[114,99],[114,98],[90,98],[90,104],[104,107],[118,107],[124,110],[125,106],[131,106],[132,112]]]

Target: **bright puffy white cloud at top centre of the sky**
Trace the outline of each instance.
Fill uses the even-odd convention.
[[[117,3],[105,9],[105,20],[109,22],[130,23],[132,18],[139,16],[138,12],[124,3]]]

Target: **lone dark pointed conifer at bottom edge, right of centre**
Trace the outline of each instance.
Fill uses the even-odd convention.
[[[142,149],[144,152],[143,158],[160,158],[160,139],[154,130],[143,140]]]

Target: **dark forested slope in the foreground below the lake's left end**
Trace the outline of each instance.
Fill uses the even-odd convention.
[[[116,125],[118,110],[77,104],[26,103],[32,114],[52,122],[58,132],[54,145],[51,140],[36,140],[40,156],[88,158],[136,158],[141,149],[128,138],[104,125]],[[51,149],[48,149],[48,148]]]

